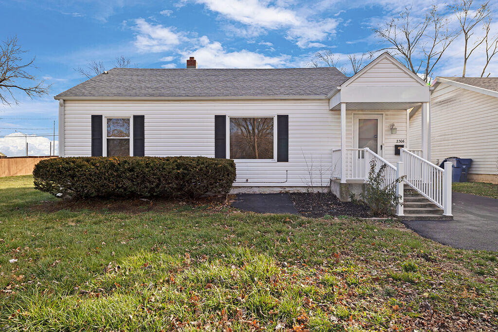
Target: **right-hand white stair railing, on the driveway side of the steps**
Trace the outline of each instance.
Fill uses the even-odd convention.
[[[451,171],[452,164],[445,163],[441,168],[402,148],[400,159],[404,163],[405,182],[422,196],[451,216]]]

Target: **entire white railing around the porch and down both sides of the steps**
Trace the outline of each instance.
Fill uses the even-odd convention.
[[[341,178],[341,158],[343,156],[341,152],[341,149],[332,150],[333,178],[336,179]],[[406,175],[404,183],[407,183],[422,196],[443,209],[445,216],[451,216],[452,164],[450,162],[445,163],[445,169],[442,169],[418,156],[417,152],[421,153],[422,150],[411,152],[402,148],[400,161],[394,166],[369,148],[346,149],[344,151],[346,179],[344,181],[341,179],[341,182],[346,182],[347,180],[367,181],[370,163],[375,160],[376,172],[382,165],[386,165],[384,170],[384,184],[386,186]],[[403,216],[404,183],[396,185],[396,194],[401,197],[401,204],[396,207],[396,215],[398,216]]]

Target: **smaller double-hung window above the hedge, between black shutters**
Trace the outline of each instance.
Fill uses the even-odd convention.
[[[129,156],[129,118],[107,119],[107,156]]]

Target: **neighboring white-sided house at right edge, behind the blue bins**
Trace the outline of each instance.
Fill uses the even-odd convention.
[[[410,114],[410,146],[420,147],[421,112]],[[437,77],[431,91],[431,161],[472,158],[469,180],[498,183],[498,77]]]

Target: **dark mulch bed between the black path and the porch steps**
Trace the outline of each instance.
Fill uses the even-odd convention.
[[[305,217],[372,217],[368,207],[351,202],[343,203],[332,193],[292,193],[290,197],[296,210]]]

